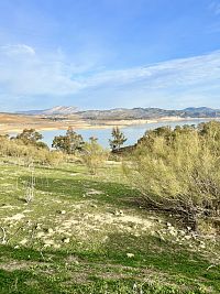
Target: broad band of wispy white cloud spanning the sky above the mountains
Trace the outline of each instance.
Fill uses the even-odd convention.
[[[0,101],[18,108],[72,104],[89,108],[189,105],[218,106],[220,51],[118,70],[70,61],[61,50],[0,47]],[[20,97],[20,98],[19,98]],[[46,102],[45,102],[46,97]],[[64,102],[65,101],[65,102]]]

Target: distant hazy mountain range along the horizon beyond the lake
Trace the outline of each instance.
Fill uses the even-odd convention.
[[[208,107],[189,107],[183,110],[166,110],[161,108],[116,108],[110,110],[85,110],[79,111],[76,107],[57,106],[45,110],[20,111],[20,115],[29,116],[70,116],[77,115],[86,120],[135,120],[158,119],[164,117],[180,118],[220,118],[220,109]]]

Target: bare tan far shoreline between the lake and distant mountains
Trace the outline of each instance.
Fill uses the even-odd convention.
[[[33,117],[34,119],[34,117]],[[68,127],[73,127],[75,130],[92,130],[92,129],[111,129],[113,127],[128,128],[132,126],[148,124],[148,123],[160,123],[160,122],[179,122],[179,121],[210,121],[220,120],[220,118],[180,118],[180,117],[164,117],[158,119],[136,119],[136,120],[97,120],[96,123],[92,121],[85,120],[68,120],[59,122],[51,121],[38,121],[38,122],[23,122],[23,123],[0,123],[0,133],[19,133],[23,129],[35,129],[36,131],[55,131],[55,130],[66,130]]]

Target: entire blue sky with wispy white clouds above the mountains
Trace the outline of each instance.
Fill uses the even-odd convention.
[[[220,0],[0,0],[0,111],[220,108]]]

